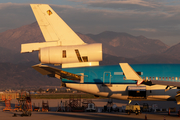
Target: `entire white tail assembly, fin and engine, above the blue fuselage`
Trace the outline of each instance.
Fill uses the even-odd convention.
[[[31,4],[31,8],[46,42],[22,44],[21,53],[39,51],[41,63],[63,68],[99,65],[101,43],[84,43],[49,5]]]

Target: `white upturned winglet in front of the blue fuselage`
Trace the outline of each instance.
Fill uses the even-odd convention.
[[[132,69],[128,63],[119,63],[127,80],[137,80],[137,86],[143,82],[143,79]]]

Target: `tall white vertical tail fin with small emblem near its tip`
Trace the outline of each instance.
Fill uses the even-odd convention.
[[[30,4],[46,42],[81,45],[83,40],[47,4]]]

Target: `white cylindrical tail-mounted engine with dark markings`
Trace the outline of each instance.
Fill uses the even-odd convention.
[[[102,44],[45,47],[39,50],[44,64],[96,62],[102,60]]]

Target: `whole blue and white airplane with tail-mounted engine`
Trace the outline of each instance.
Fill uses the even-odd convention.
[[[39,51],[42,75],[95,96],[121,100],[175,101],[180,104],[180,64],[99,66],[102,44],[87,44],[47,4],[30,5],[46,42],[21,44],[21,53]],[[61,65],[62,69],[46,64]]]

